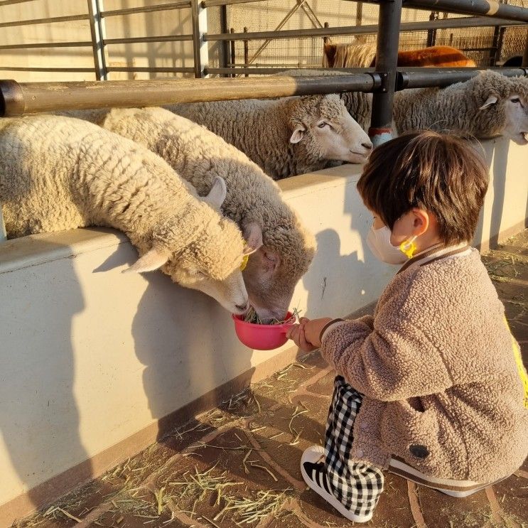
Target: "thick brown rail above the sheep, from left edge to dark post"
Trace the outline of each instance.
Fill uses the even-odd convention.
[[[141,107],[232,99],[371,91],[381,85],[372,73],[324,77],[171,79],[85,82],[1,80],[4,116],[53,110]]]

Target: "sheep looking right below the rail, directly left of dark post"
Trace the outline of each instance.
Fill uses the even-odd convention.
[[[166,106],[207,126],[279,180],[317,171],[329,160],[362,163],[372,149],[338,95]]]

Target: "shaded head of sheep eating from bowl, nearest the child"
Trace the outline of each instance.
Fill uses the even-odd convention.
[[[249,240],[263,236],[256,222],[244,226],[244,235]],[[291,221],[264,233],[262,247],[249,257],[243,271],[249,303],[261,319],[284,319],[293,290],[308,271],[315,251],[313,235],[303,229],[294,215]]]

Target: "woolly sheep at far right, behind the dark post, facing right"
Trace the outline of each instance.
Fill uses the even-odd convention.
[[[276,75],[343,75],[335,70],[289,70]],[[370,126],[372,95],[341,95],[352,117]],[[394,134],[417,129],[450,130],[477,139],[505,135],[519,145],[528,143],[528,79],[480,72],[445,88],[416,88],[394,94]]]

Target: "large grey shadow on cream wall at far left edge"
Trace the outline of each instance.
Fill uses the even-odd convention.
[[[3,251],[9,248],[9,242],[5,244]],[[63,247],[43,241],[39,244],[43,249],[48,246],[50,251]],[[28,500],[33,506],[42,505],[50,490],[56,490],[53,479],[33,487],[56,472],[57,457],[51,457],[50,451],[65,453],[66,463],[72,459],[81,463],[88,458],[80,439],[79,410],[73,394],[72,325],[75,314],[85,308],[74,262],[60,259],[61,273],[49,274],[53,284],[45,289],[40,287],[43,277],[39,270],[57,262],[27,267],[23,270],[24,281],[9,281],[9,277],[2,281],[1,322],[9,331],[1,336],[0,437],[6,453],[0,452],[0,466],[7,457],[6,463],[11,462],[29,490]],[[10,275],[9,271],[6,275]],[[60,292],[60,309],[58,296],[51,291]],[[31,297],[27,292],[31,292]],[[21,350],[14,343],[25,343],[25,346]],[[80,481],[92,477],[90,461],[80,464],[77,477]],[[11,495],[13,485],[0,477],[0,488],[6,486],[0,490],[0,496]]]

